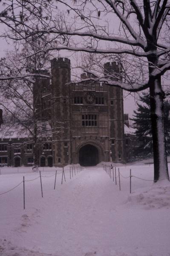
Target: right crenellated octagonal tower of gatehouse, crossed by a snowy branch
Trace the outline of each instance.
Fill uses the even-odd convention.
[[[104,75],[109,79],[121,80],[121,72],[121,65],[115,61],[104,64]],[[108,122],[112,161],[120,162],[125,160],[123,90],[119,87],[108,87]]]

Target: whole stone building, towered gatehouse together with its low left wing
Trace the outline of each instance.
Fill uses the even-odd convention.
[[[116,62],[104,64],[105,76],[114,73],[115,79],[120,79],[120,72]],[[48,74],[46,70],[42,73]],[[51,80],[36,78],[33,88],[36,119],[41,124],[48,123],[51,129],[50,143],[40,144],[37,148],[40,166],[70,163],[91,166],[101,161],[126,160],[123,91],[104,82],[90,80],[92,78],[94,76],[89,73],[83,73],[79,83],[72,83],[68,58],[52,59]],[[7,126],[3,124],[0,128],[1,141],[8,143],[6,151],[0,151],[1,163],[12,166],[32,164],[30,134],[21,132],[22,136],[19,136],[14,127],[9,130]],[[20,129],[16,129],[19,132]],[[6,136],[5,133],[10,131],[13,135]],[[24,146],[17,150],[16,143]],[[3,153],[6,159],[2,158]]]

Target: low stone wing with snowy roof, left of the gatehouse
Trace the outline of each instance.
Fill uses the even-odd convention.
[[[2,116],[2,110],[0,110]],[[51,135],[51,126],[49,124],[38,123],[43,134],[48,137]],[[48,132],[47,132],[48,131]],[[50,132],[49,132],[50,131]],[[37,143],[37,154],[41,166],[52,166],[52,143],[41,141],[39,132],[39,141]],[[19,123],[0,124],[0,166],[32,166],[33,143],[32,134]]]

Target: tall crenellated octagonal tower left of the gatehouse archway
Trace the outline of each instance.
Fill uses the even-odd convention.
[[[72,162],[70,60],[52,59],[51,74],[54,165],[61,166]]]

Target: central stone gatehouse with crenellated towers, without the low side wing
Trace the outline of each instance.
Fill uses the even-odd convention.
[[[106,63],[104,70],[106,75],[116,73],[119,79],[121,70],[116,62]],[[81,75],[80,83],[71,83],[67,58],[51,61],[51,75],[51,91],[41,93],[44,103],[40,108],[49,108],[51,97],[51,112],[48,110],[47,115],[53,129],[53,164],[124,162],[122,90],[94,82],[88,73]]]

